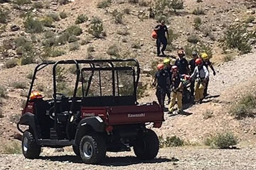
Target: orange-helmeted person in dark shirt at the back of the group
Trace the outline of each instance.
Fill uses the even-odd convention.
[[[183,50],[178,50],[179,58],[175,61],[175,66],[178,67],[180,74],[188,74],[188,62],[185,58],[185,52]]]

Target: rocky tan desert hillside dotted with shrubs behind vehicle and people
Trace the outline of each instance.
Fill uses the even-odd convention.
[[[225,114],[231,103],[239,100],[234,94],[249,90],[247,87],[255,82],[251,78],[255,73],[246,70],[255,66],[255,9],[251,0],[0,0],[0,140],[13,140],[31,72],[42,61],[137,58],[143,70],[141,82],[145,91],[140,101],[156,100],[149,85],[150,71],[155,68],[152,64],[162,58],[156,57],[151,31],[159,20],[165,19],[170,27],[166,54],[175,56],[179,47],[185,49],[187,58],[192,50],[207,51],[219,69],[210,92],[221,96],[202,107],[190,108],[191,117],[166,118],[158,134],[203,143],[207,134],[219,127],[226,129],[224,123],[229,121],[228,130],[254,143],[255,129],[251,127],[255,120],[246,119],[248,125],[245,120]],[[248,52],[253,53],[240,56]],[[246,65],[240,69],[238,66],[244,61]],[[52,79],[48,71],[39,74],[36,87],[50,97]],[[65,74],[59,76],[71,82],[71,72],[71,68],[65,68]],[[238,79],[238,84],[234,83]],[[216,116],[201,121],[207,109]],[[209,126],[202,132],[198,129],[203,124]],[[250,133],[243,137],[245,131]]]

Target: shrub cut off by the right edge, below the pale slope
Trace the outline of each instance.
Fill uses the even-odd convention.
[[[243,96],[238,103],[231,107],[230,112],[236,119],[255,117],[255,108],[256,96],[254,94],[247,94]]]

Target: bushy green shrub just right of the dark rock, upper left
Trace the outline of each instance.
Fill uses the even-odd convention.
[[[42,23],[32,17],[26,19],[24,27],[28,33],[41,33],[43,31]]]

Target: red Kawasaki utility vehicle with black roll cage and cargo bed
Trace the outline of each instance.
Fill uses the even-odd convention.
[[[63,64],[76,66],[72,97],[57,90],[56,67]],[[37,72],[47,66],[53,66],[50,100],[32,91]],[[131,147],[139,159],[155,158],[159,150],[158,137],[146,124],[153,123],[155,128],[160,128],[164,113],[156,102],[137,102],[139,74],[139,63],[133,59],[39,64],[17,124],[23,133],[24,156],[37,158],[41,147],[73,146],[75,154],[89,164],[101,163],[106,152],[130,151]],[[79,90],[81,97],[77,97]],[[21,130],[20,125],[27,125],[27,130]]]

